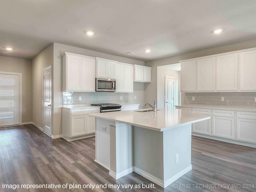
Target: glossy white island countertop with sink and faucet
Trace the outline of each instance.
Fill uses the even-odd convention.
[[[96,118],[102,118],[114,122],[130,124],[156,131],[179,127],[186,124],[210,119],[210,116],[198,114],[180,109],[158,108],[156,112],[118,111],[109,113],[90,114]]]

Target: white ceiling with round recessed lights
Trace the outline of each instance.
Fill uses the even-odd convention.
[[[255,18],[256,0],[1,0],[0,51],[33,58],[57,42],[148,61],[254,39]]]

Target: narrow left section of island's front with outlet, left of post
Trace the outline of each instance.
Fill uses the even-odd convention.
[[[106,127],[106,131],[102,127]],[[96,118],[96,137],[95,137],[95,161],[110,169],[110,136],[109,121]]]

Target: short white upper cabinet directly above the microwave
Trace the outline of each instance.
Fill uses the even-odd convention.
[[[96,76],[101,78],[115,78],[115,66],[117,62],[103,58],[96,59]]]

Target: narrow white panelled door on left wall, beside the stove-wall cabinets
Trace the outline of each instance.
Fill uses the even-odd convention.
[[[49,136],[52,135],[52,68],[44,70],[44,132]]]

